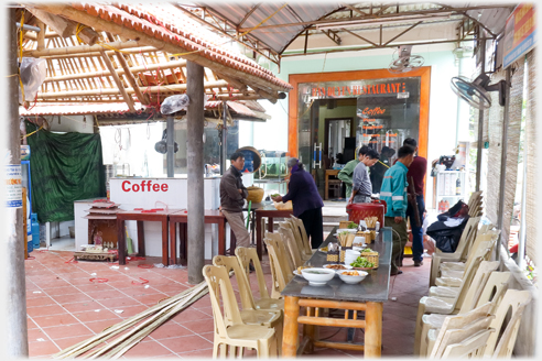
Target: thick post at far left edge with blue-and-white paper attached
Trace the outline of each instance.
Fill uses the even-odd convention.
[[[6,85],[2,100],[2,118],[6,121],[6,133],[0,142],[4,153],[4,164],[21,164],[21,135],[19,120],[19,78],[17,26],[18,20],[14,8],[8,8],[8,17],[3,22],[3,47],[6,67],[2,68],[1,81]],[[6,166],[3,165],[3,166]],[[2,189],[6,189],[3,187]],[[4,190],[2,190],[4,192]],[[22,197],[21,197],[22,200]],[[2,204],[6,207],[6,204]],[[0,338],[0,355],[2,360],[29,357],[28,326],[26,326],[26,286],[24,280],[24,244],[22,228],[22,208],[6,207],[0,218],[0,228],[3,230],[0,248],[0,259],[3,265],[0,294],[2,307],[0,319],[3,320],[4,337]]]

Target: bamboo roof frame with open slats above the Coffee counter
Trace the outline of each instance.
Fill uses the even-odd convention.
[[[75,34],[62,37],[29,11],[25,14],[25,23],[41,25],[42,31],[22,30],[23,56],[46,61],[45,81],[26,107],[42,102],[123,102],[129,113],[139,114],[136,102],[159,112],[163,99],[186,90],[186,59],[165,48],[109,31],[98,31],[98,44],[88,45]],[[245,79],[208,67],[204,87],[210,100],[277,102],[279,98],[275,90],[250,87]]]

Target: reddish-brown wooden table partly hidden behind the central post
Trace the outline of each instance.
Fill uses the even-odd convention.
[[[218,225],[218,254],[226,254],[226,217],[218,209],[205,209],[205,223]],[[178,210],[170,214],[170,263],[176,263],[176,230],[177,223],[180,227],[180,259],[186,260],[187,250],[187,229],[188,229],[188,212],[186,210]]]

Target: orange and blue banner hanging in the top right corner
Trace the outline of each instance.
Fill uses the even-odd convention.
[[[532,3],[519,4],[510,17],[508,17],[503,41],[503,68],[507,68],[534,47],[536,33],[535,19],[536,13]]]

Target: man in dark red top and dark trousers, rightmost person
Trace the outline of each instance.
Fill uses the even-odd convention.
[[[427,172],[427,160],[423,156],[418,155],[418,142],[413,138],[406,138],[403,141],[403,145],[410,145],[415,150],[414,161],[409,166],[409,172],[406,173],[406,180],[410,182],[411,177],[414,180],[415,195],[409,194],[409,197],[415,197],[418,203],[418,209],[412,207],[409,201],[409,207],[406,208],[406,217],[410,218],[410,228],[412,229],[412,260],[414,261],[414,266],[419,267],[423,264],[423,215],[425,211],[425,200],[423,199],[423,186],[425,173]],[[416,226],[414,212],[420,215],[420,227]],[[401,262],[402,263],[402,262]]]

